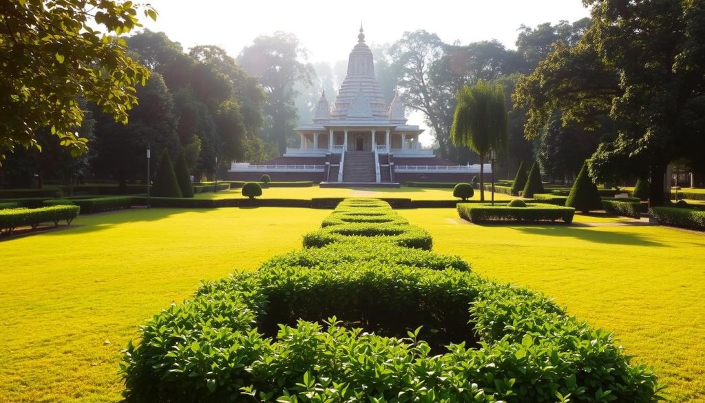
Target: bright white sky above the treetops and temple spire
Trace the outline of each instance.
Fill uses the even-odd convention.
[[[309,61],[348,59],[360,21],[367,44],[392,43],[403,32],[436,32],[446,43],[496,39],[515,48],[517,28],[589,16],[580,0],[144,0],[159,13],[145,28],[164,31],[185,48],[215,44],[237,56],[258,35],[282,30],[298,36]],[[424,127],[422,116],[410,124]],[[423,136],[422,143],[431,143]]]

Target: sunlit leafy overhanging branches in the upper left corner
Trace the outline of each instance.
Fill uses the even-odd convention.
[[[127,122],[149,71],[113,34],[139,27],[136,15],[131,1],[0,3],[0,164],[17,145],[38,148],[42,128],[73,155],[85,152],[87,139],[74,136],[85,116],[79,99]]]

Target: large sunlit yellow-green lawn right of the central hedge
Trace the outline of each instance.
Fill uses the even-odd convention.
[[[705,402],[705,236],[656,226],[474,225],[453,209],[399,210],[472,269],[553,297],[615,332],[673,402]],[[577,222],[620,222],[576,215]]]

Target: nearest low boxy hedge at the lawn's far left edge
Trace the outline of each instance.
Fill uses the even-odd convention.
[[[53,222],[59,225],[66,220],[66,224],[78,215],[80,207],[76,205],[54,205],[40,208],[11,208],[0,210],[0,233],[11,234],[17,227],[37,228],[43,222]]]

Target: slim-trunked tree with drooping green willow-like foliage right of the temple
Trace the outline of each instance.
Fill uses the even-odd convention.
[[[479,155],[480,200],[484,201],[484,162],[491,150],[504,150],[508,141],[504,90],[500,85],[479,80],[473,87],[463,85],[455,99],[458,106],[450,140],[456,147],[467,146]]]

